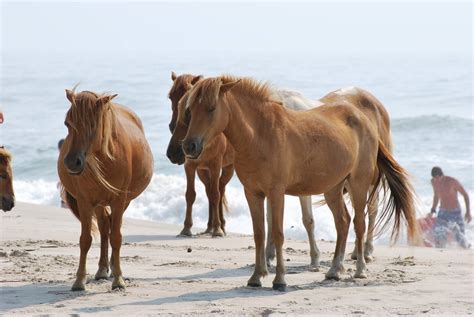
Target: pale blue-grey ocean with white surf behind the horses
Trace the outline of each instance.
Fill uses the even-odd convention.
[[[79,90],[117,93],[115,100],[132,108],[144,123],[155,157],[155,175],[125,215],[181,225],[185,212],[184,171],[166,158],[171,71],[251,76],[270,81],[275,87],[299,91],[310,99],[347,86],[367,89],[390,113],[395,157],[412,177],[419,215],[428,213],[431,207],[430,171],[435,165],[456,177],[474,200],[470,55],[165,51],[2,55],[0,107],[5,123],[0,126],[0,144],[14,154],[17,200],[59,205],[57,142],[66,135],[63,121],[69,107],[64,89],[79,83]],[[197,183],[194,233],[198,232],[196,228],[205,227],[208,214],[204,188]],[[251,233],[248,206],[236,176],[228,186],[227,198],[228,231]],[[464,201],[459,199],[464,212]],[[317,239],[335,240],[330,211],[315,206],[313,214]],[[286,237],[306,237],[295,197],[287,196],[285,200],[284,225]],[[471,223],[466,230],[472,243],[474,225]],[[353,239],[351,229],[349,240]],[[387,243],[387,238],[382,237],[378,243]]]

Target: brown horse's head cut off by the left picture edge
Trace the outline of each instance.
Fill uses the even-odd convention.
[[[10,152],[0,146],[0,209],[3,211],[10,211],[15,207],[11,161]]]

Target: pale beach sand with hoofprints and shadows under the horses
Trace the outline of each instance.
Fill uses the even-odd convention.
[[[246,287],[254,263],[251,236],[177,238],[180,227],[126,219],[122,270],[127,288],[95,281],[98,240],[89,252],[89,282],[72,292],[79,222],[69,211],[19,203],[0,215],[0,313],[93,315],[468,315],[474,312],[473,250],[376,246],[367,279],[327,281],[334,242],[318,241],[319,272],[305,241],[286,240],[288,291]],[[195,228],[195,232],[198,230]],[[348,244],[347,251],[353,245]],[[188,252],[191,251],[191,252]]]

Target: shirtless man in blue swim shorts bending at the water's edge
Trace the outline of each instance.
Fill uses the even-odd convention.
[[[440,167],[433,167],[431,170],[431,185],[433,186],[434,197],[431,214],[436,213],[436,207],[440,202],[438,217],[435,224],[436,247],[446,246],[447,230],[451,229],[456,236],[456,241],[463,248],[469,248],[464,237],[464,220],[471,222],[471,210],[469,206],[469,195],[462,187],[461,183],[453,177],[444,176]],[[464,197],[466,204],[466,215],[464,220],[461,214],[461,206],[458,201],[458,192]]]

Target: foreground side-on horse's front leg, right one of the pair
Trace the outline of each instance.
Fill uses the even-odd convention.
[[[273,289],[277,291],[286,290],[285,260],[283,259],[283,212],[285,207],[285,192],[272,191],[269,194],[270,206],[272,208],[272,238],[276,250],[276,275],[273,280]]]

